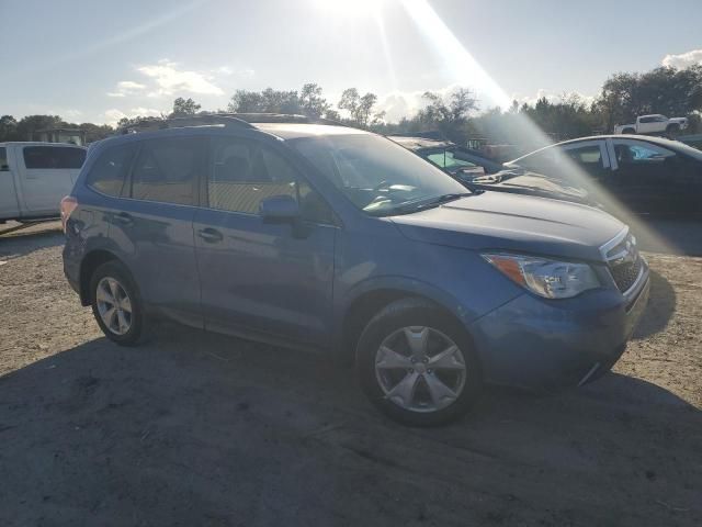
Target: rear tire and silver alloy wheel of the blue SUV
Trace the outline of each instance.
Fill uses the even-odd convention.
[[[112,303],[115,298],[118,305]],[[136,283],[122,264],[107,261],[95,269],[90,279],[90,304],[100,329],[110,340],[121,346],[135,346],[140,341],[145,324],[144,303]],[[114,307],[112,315],[111,305]],[[105,319],[111,321],[110,326]]]

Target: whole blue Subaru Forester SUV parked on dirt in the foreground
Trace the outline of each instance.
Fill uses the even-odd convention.
[[[159,126],[91,148],[61,203],[66,276],[117,344],[167,317],[321,350],[392,418],[433,425],[485,383],[596,379],[647,302],[635,238],[596,209],[469,193],[299,116]]]

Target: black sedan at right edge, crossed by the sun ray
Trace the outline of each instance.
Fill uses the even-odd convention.
[[[582,137],[505,165],[529,173],[497,181],[478,179],[474,188],[553,191],[558,198],[611,212],[621,203],[642,214],[702,213],[702,152],[677,141],[637,135]]]

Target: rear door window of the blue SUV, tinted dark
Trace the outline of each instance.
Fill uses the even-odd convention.
[[[205,170],[206,141],[169,137],[141,143],[132,171],[132,198],[194,205]]]

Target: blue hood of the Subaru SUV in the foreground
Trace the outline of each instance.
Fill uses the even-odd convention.
[[[390,220],[418,242],[598,261],[599,247],[625,227],[587,205],[506,192],[477,193]]]

